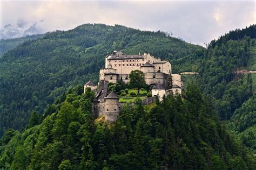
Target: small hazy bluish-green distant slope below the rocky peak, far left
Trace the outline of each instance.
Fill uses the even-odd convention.
[[[19,44],[22,44],[22,42],[26,40],[31,40],[31,39],[37,39],[42,36],[43,36],[42,34],[37,34],[37,35],[26,36],[22,38],[1,39],[0,40],[0,58],[3,56],[5,52],[8,52],[9,50],[14,49]]]

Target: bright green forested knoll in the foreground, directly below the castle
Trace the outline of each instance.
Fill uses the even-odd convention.
[[[93,118],[94,93],[69,90],[23,132],[8,130],[0,168],[255,169],[254,156],[227,132],[196,84],[183,100],[169,95],[153,107],[138,99],[114,124]],[[43,119],[43,120],[42,120]]]

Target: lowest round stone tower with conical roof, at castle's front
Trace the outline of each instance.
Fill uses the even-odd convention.
[[[111,91],[111,93],[105,97],[105,120],[109,122],[116,121],[119,111],[119,97]]]

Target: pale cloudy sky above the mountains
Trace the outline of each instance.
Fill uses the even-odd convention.
[[[230,30],[256,23],[255,1],[5,1],[0,29],[36,23],[39,33],[70,30],[85,23],[124,25],[172,32],[203,45]]]

